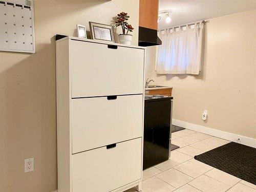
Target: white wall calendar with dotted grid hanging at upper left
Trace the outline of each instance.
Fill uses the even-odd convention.
[[[0,0],[0,51],[35,53],[32,1]]]

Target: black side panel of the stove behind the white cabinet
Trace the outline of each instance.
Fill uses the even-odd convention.
[[[145,100],[143,170],[169,158],[172,97]]]

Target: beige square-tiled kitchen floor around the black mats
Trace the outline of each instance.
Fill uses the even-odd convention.
[[[167,161],[143,171],[142,192],[256,192],[256,185],[194,159],[230,141],[190,130],[175,132],[172,138],[180,148]]]

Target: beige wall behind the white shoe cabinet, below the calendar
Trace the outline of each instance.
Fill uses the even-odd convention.
[[[47,192],[57,188],[55,41],[76,24],[111,24],[130,13],[138,42],[139,0],[35,0],[35,54],[0,52],[0,191]],[[120,29],[119,29],[120,30]],[[89,55],[88,55],[89,56]],[[84,59],[87,55],[84,54]],[[24,159],[34,157],[34,172]]]

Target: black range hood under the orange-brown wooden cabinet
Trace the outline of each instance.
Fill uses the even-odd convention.
[[[157,30],[139,26],[139,46],[162,45],[161,39],[157,36]]]

